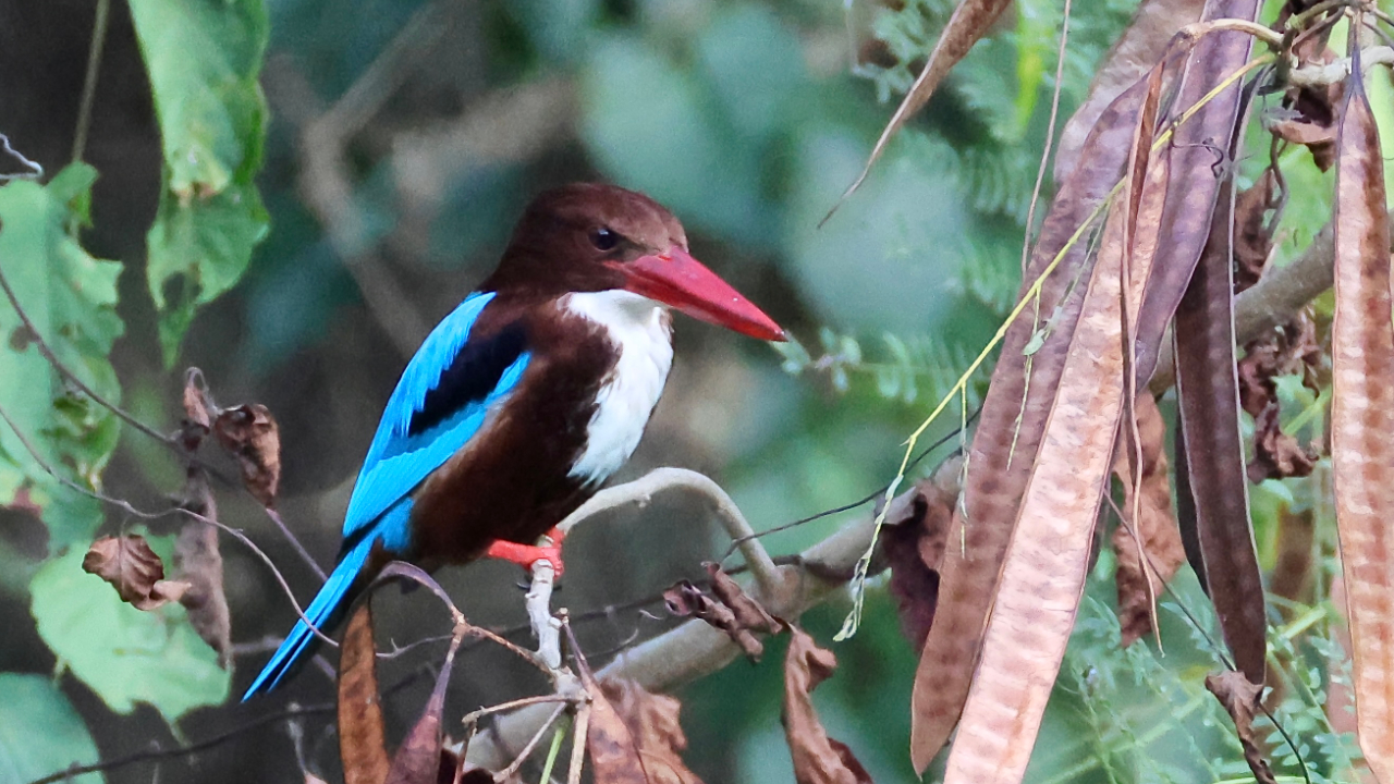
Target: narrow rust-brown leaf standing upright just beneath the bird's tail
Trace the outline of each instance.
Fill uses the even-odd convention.
[[[382,730],[376,654],[372,610],[364,601],[348,618],[339,644],[339,756],[344,784],[379,784],[386,781],[390,767]]]

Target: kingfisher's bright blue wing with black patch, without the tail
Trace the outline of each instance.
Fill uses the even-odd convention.
[[[471,294],[407,363],[358,472],[344,515],[346,540],[361,536],[464,446],[489,407],[523,377],[531,354],[520,326],[470,343],[470,329],[492,300],[492,293]]]

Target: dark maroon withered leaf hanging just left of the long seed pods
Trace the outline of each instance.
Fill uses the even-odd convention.
[[[940,597],[940,565],[948,544],[953,505],[958,502],[960,459],[945,460],[934,477],[920,481],[913,494],[891,504],[881,529],[881,554],[891,568],[891,596],[901,611],[901,629],[914,646],[934,622]]]

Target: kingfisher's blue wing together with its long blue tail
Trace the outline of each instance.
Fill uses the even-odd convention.
[[[478,432],[489,407],[517,386],[531,354],[520,324],[482,339],[470,332],[493,294],[471,294],[445,317],[407,363],[378,423],[344,516],[339,565],[305,617],[321,631],[347,610],[375,543],[403,554],[411,545],[411,491]],[[286,636],[243,700],[269,692],[305,657],[305,621]]]

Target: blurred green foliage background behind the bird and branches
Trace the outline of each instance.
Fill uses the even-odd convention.
[[[1061,120],[1082,100],[1132,6],[1076,4]],[[0,130],[50,170],[71,145],[93,7],[91,0],[0,3],[0,35],[10,43],[0,47]],[[514,216],[541,188],[598,179],[647,191],[684,222],[698,258],[803,343],[806,353],[781,354],[679,319],[668,393],[619,477],[659,465],[710,473],[757,529],[855,501],[894,476],[905,435],[1015,296],[1057,86],[1055,3],[1013,4],[821,229],[952,11],[948,0],[268,0],[266,7],[270,46],[261,81],[272,123],[258,183],[272,232],[243,282],[201,311],[173,370],[160,360],[144,283],[159,135],[120,0],[88,148],[100,180],[85,241],[96,255],[127,262],[120,312],[128,329],[116,363],[128,407],[173,428],[183,365],[201,367],[220,402],[268,405],[284,449],[283,515],[322,564],[337,548],[358,460],[397,372],[435,319],[488,273]],[[333,155],[335,144],[342,155]],[[1050,188],[1047,177],[1047,199]],[[972,385],[969,403],[983,381]],[[125,434],[106,487],[158,506],[181,472],[155,444]],[[312,576],[259,509],[231,492],[220,502],[222,518],[266,547],[308,597]],[[771,536],[767,545],[776,555],[797,552],[859,513],[867,512],[824,518]],[[11,578],[0,593],[7,629],[0,671],[50,672],[53,654],[25,596],[43,532],[18,515],[0,520]],[[109,519],[117,525],[123,520]],[[698,564],[726,548],[700,511],[666,499],[595,520],[567,545],[558,603],[573,612],[696,579]],[[223,551],[233,639],[243,644],[231,685],[240,693],[266,656],[258,643],[284,633],[293,612],[245,551],[233,543]],[[1115,653],[1107,555],[1097,569],[1033,778],[1195,781],[1243,770],[1232,745],[1197,741],[1188,730],[1211,721],[1214,706],[1195,703],[1196,679],[1182,684],[1177,672],[1195,674],[1209,657],[1192,650],[1174,614],[1164,614],[1174,646],[1165,667],[1146,646]],[[523,619],[519,578],[499,564],[441,575],[471,619],[498,625]],[[1193,583],[1185,585],[1195,596]],[[390,608],[379,612],[389,619],[379,639],[407,642],[446,628],[420,591],[388,590],[379,607]],[[829,643],[846,610],[845,600],[835,601],[806,622]],[[650,604],[579,632],[602,661],[672,622],[661,604]],[[792,780],[778,724],[783,644],[774,642],[758,665],[736,663],[679,692],[687,760],[704,780]],[[815,698],[829,732],[856,751],[875,781],[914,780],[906,748],[916,656],[880,583],[868,593],[860,633],[834,650],[839,671]],[[389,699],[390,741],[429,691],[421,667],[439,656],[439,647],[418,649],[382,667],[386,684],[407,681]],[[332,682],[307,668],[272,698],[195,710],[169,727],[153,709],[117,716],[74,678],[57,682],[103,757],[206,738],[289,702],[318,704],[333,695]],[[449,711],[541,688],[535,672],[507,656],[471,649],[456,670]],[[1163,732],[1138,738],[1139,727],[1158,721]],[[106,778],[302,781],[301,764],[337,776],[330,716],[291,727],[269,724],[197,757],[141,763]],[[1151,762],[1136,763],[1133,749]],[[1110,755],[1119,753],[1125,762],[1115,769]],[[1217,755],[1238,766],[1216,767]],[[1096,762],[1075,767],[1089,759]]]

